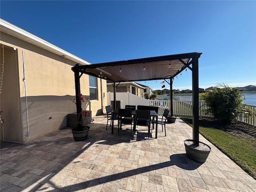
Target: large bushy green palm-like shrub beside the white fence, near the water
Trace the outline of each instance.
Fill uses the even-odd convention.
[[[240,114],[252,115],[252,111],[243,103],[244,98],[238,88],[230,88],[225,84],[217,84],[213,90],[199,94],[205,100],[211,112],[223,124],[230,124]]]

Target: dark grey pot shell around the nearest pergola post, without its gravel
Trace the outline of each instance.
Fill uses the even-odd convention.
[[[188,158],[199,162],[199,163],[204,163],[208,157],[208,155],[210,154],[211,148],[210,146],[208,146],[207,144],[203,143],[203,142],[199,142],[202,143],[206,146],[206,148],[208,147],[208,150],[198,150],[190,145],[186,144],[186,141],[194,141],[192,139],[187,139],[184,140],[184,145],[185,145],[185,149],[186,149],[186,155],[188,156]]]

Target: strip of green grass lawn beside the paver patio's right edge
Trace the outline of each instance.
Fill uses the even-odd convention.
[[[180,118],[192,127],[192,118]],[[207,120],[202,119],[199,120],[199,132],[245,172],[256,179],[256,146],[253,145],[253,142],[214,128]]]

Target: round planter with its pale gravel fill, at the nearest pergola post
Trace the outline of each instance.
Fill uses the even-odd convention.
[[[199,147],[196,147],[192,144],[193,141],[194,140],[192,139],[184,140],[186,155],[188,158],[196,162],[204,163],[211,151],[211,148],[203,142],[199,142]]]

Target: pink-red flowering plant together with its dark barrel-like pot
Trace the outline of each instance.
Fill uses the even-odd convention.
[[[78,94],[79,103],[86,102],[85,109],[88,106],[89,98],[83,98],[82,94]],[[71,100],[71,99],[70,99]],[[73,99],[72,102],[77,105],[76,99]],[[77,114],[77,121],[70,122],[70,126],[72,127],[71,131],[75,141],[82,141],[88,138],[88,133],[90,130],[91,124],[94,122],[94,119],[91,118],[91,111],[82,110],[79,114]]]

